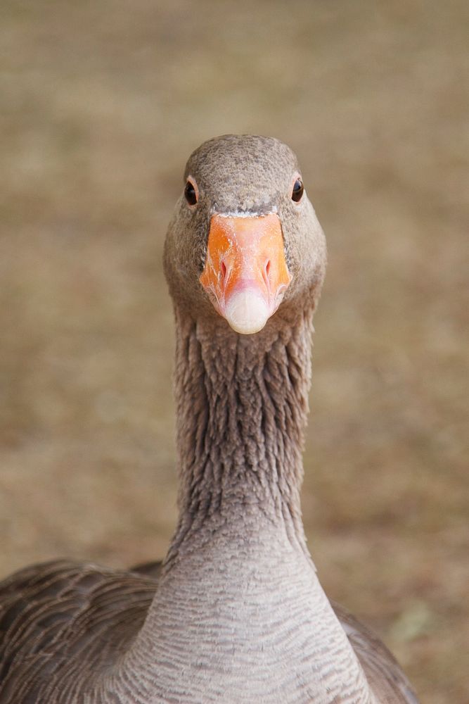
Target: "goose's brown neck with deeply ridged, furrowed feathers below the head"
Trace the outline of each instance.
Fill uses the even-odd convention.
[[[179,524],[167,565],[221,525],[259,518],[304,548],[300,510],[312,312],[255,336],[176,308]]]

